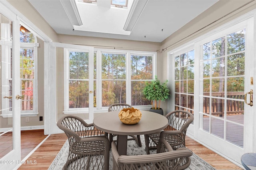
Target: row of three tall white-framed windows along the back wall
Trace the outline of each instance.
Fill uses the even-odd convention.
[[[64,59],[64,68],[68,68],[64,70],[64,80],[68,79],[68,82],[64,82],[67,86],[64,97],[68,99],[64,101],[64,113],[87,113],[88,53],[74,49],[64,50],[64,53],[69,56]],[[155,60],[156,52],[96,49],[94,110],[107,109],[113,103],[150,107],[151,103],[144,97],[143,89],[146,81],[152,81],[156,75]]]

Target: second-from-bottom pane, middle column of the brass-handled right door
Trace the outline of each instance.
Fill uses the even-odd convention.
[[[212,115],[224,119],[224,99],[212,99]]]

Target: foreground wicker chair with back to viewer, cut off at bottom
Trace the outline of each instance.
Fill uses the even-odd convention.
[[[183,170],[189,166],[189,157],[193,153],[188,148],[173,150],[170,144],[161,138],[156,154],[119,155],[115,142],[112,142],[112,154],[113,170]]]

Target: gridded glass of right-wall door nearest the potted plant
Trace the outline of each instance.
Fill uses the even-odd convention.
[[[194,114],[194,49],[175,57],[175,110]]]

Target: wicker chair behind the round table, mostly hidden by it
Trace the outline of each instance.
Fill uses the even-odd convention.
[[[126,109],[126,108],[132,108],[131,105],[128,105],[126,103],[116,103],[116,104],[113,104],[113,105],[110,105],[108,107],[108,111],[111,112],[111,111],[120,111],[122,109]],[[116,136],[116,134],[109,134],[109,141],[110,141],[110,144],[111,142],[113,141],[113,137]],[[141,141],[140,141],[140,135],[129,135],[131,138],[128,138],[127,140],[135,140],[136,143],[141,147],[142,144],[141,144]]]

